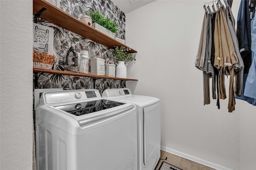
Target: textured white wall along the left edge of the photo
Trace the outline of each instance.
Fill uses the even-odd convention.
[[[32,0],[1,0],[1,170],[32,169]]]

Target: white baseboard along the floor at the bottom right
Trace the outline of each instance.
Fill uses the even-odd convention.
[[[171,154],[175,154],[175,155],[180,156],[182,158],[191,160],[191,161],[196,162],[198,164],[202,164],[204,166],[208,166],[210,168],[214,168],[216,170],[233,170],[233,169],[227,168],[225,166],[221,166],[219,164],[215,164],[215,163],[210,162],[208,160],[197,158],[196,156],[192,156],[192,155],[180,152],[178,150],[174,150],[174,149],[170,149],[170,148],[164,147],[162,145],[161,145],[161,150],[164,150],[165,152],[169,152]]]

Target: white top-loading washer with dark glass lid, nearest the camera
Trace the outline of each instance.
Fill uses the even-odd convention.
[[[133,104],[98,90],[44,92],[36,108],[37,170],[136,170]]]

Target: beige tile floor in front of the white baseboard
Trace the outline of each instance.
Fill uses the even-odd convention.
[[[212,168],[209,168],[207,166],[198,164],[196,162],[187,160],[185,158],[182,158],[180,156],[176,156],[174,154],[170,154],[168,152],[164,152],[161,150],[161,156],[160,158],[165,159],[167,157],[167,160],[159,160],[158,164],[156,165],[155,170],[158,170],[162,164],[162,162],[167,162],[169,164],[172,164],[178,168],[181,168],[182,170],[214,170]]]

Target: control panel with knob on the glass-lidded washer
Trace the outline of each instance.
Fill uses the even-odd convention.
[[[42,96],[45,104],[59,104],[89,99],[97,100],[101,98],[99,91],[96,89],[45,92]]]

